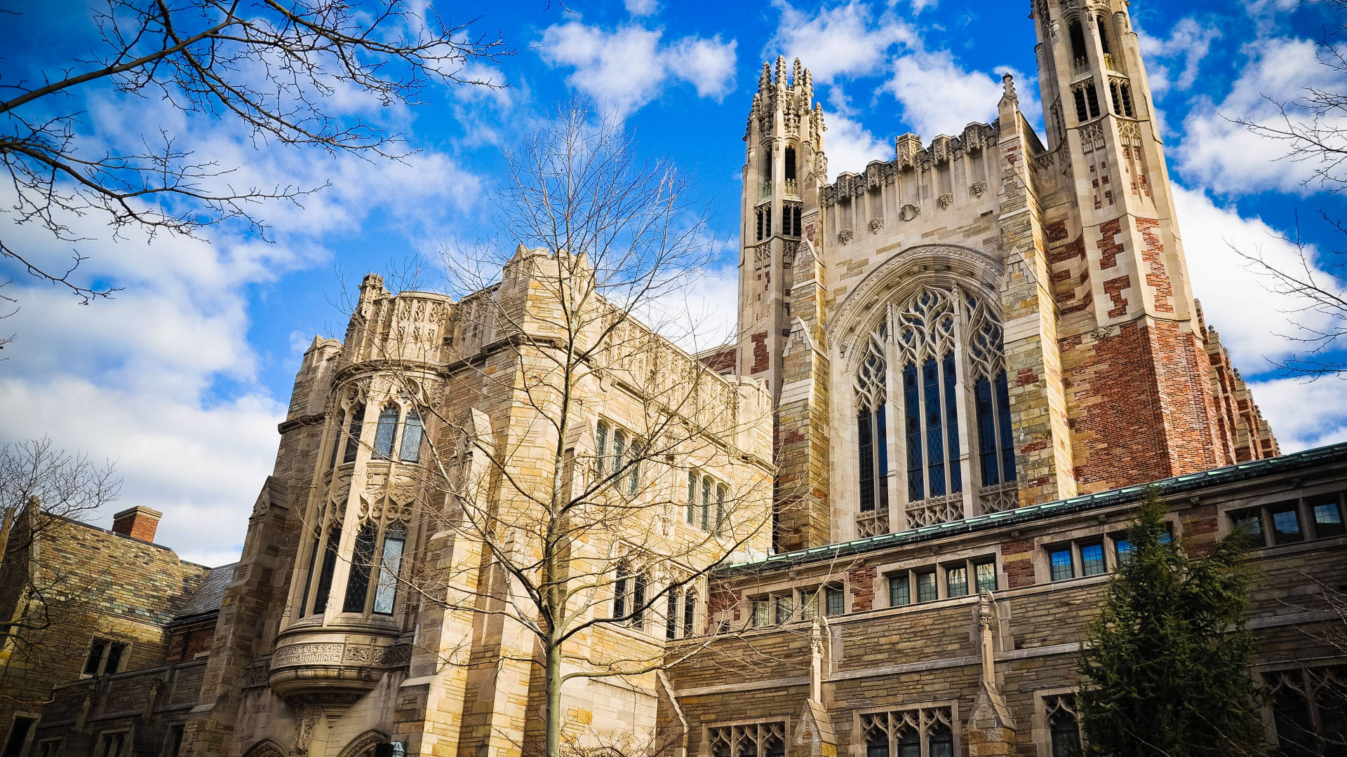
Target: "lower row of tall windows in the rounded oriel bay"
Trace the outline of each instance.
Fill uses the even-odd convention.
[[[346,574],[346,594],[342,597],[341,612],[343,613],[393,614],[397,577],[407,548],[407,531],[401,525],[391,525],[383,531],[383,539],[380,539],[380,528],[373,521],[365,521],[356,533],[350,570]],[[333,524],[325,533],[314,537],[304,578],[304,594],[300,601],[300,614],[327,612],[327,601],[337,574],[337,558],[341,552],[341,524]],[[321,563],[319,555],[322,555]],[[317,586],[314,586],[315,568],[318,568]],[[311,605],[310,599],[313,599]]]

